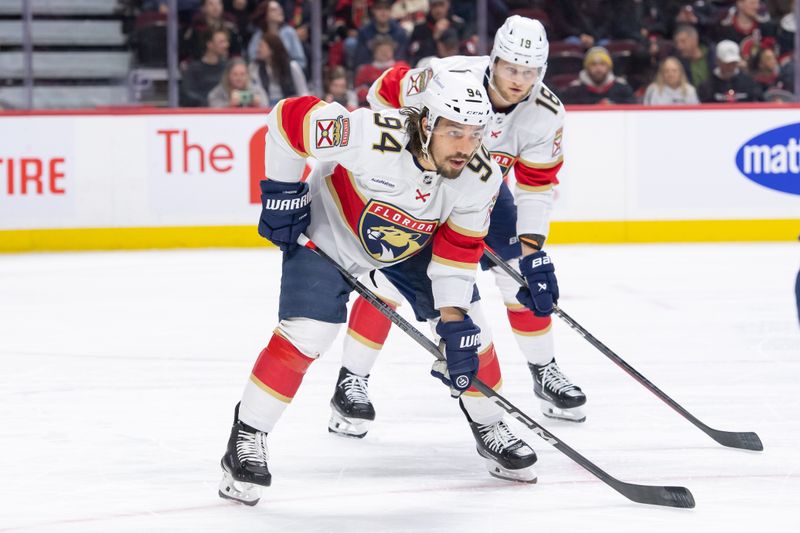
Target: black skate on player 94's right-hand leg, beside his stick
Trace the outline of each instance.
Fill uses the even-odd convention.
[[[467,417],[475,437],[478,455],[486,461],[486,468],[496,478],[522,483],[536,483],[536,452],[511,432],[505,422],[478,424],[469,417],[464,404],[461,410]]]

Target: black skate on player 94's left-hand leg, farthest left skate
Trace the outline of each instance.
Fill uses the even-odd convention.
[[[234,411],[228,449],[222,456],[221,498],[245,505],[255,505],[261,497],[260,486],[269,487],[272,474],[267,468],[267,434],[239,420],[239,404]]]

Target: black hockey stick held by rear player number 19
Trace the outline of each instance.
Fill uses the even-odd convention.
[[[522,285],[523,287],[528,286],[528,282],[525,281],[525,278],[522,275],[514,270],[514,268],[509,265],[506,261],[504,261],[501,257],[499,257],[494,251],[486,246],[483,250],[484,255],[488,257],[492,262],[494,262],[497,266],[502,268],[504,271],[508,273],[514,280]],[[700,420],[695,418],[689,411],[684,409],[678,402],[667,396],[667,394],[653,385],[650,380],[646,377],[641,375],[635,368],[631,365],[626,363],[620,356],[615,354],[611,349],[597,340],[591,333],[583,329],[583,327],[578,324],[571,316],[565,313],[561,308],[557,305],[553,306],[553,313],[555,313],[561,320],[567,323],[569,327],[574,329],[578,332],[578,334],[586,339],[589,344],[600,350],[600,352],[611,359],[617,366],[619,366],[622,370],[627,372],[633,379],[641,383],[647,390],[655,394],[660,400],[664,403],[672,407],[679,415],[687,419],[689,422],[700,428],[700,430],[717,441],[718,443],[722,444],[723,446],[728,446],[730,448],[740,448],[742,450],[755,450],[761,451],[764,449],[764,445],[761,444],[761,439],[758,438],[752,431],[747,432],[734,432],[734,431],[721,431],[718,429],[711,428]]]

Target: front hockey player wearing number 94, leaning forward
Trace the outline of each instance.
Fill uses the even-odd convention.
[[[261,352],[222,457],[219,494],[254,505],[272,480],[267,435],[308,366],[347,318],[351,287],[325,259],[297,246],[305,233],[349,272],[382,269],[444,342],[432,373],[451,394],[478,376],[499,388],[499,367],[478,357],[486,342],[473,303],[502,172],[482,146],[490,104],[466,73],[442,71],[420,108],[349,113],[311,96],[282,100],[267,119],[266,179],[259,233],[284,250],[279,324]],[[305,158],[319,164],[300,181]],[[471,316],[466,310],[474,310]],[[492,473],[535,480],[536,454],[514,436],[487,398],[462,408]],[[477,426],[476,426],[477,427]]]

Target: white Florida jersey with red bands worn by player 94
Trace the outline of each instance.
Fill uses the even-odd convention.
[[[468,309],[502,172],[481,146],[456,179],[423,169],[396,110],[348,112],[313,96],[287,98],[267,117],[267,179],[299,181],[307,157],[308,236],[354,274],[433,246],[434,305]]]

